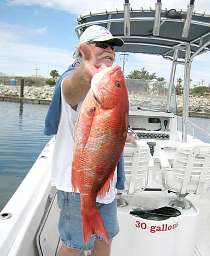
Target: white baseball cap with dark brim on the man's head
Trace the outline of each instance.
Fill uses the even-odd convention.
[[[89,41],[113,41],[114,46],[123,46],[124,41],[120,37],[114,37],[106,27],[93,25],[88,27],[81,35],[79,43]]]

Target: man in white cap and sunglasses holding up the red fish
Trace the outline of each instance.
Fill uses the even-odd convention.
[[[123,46],[123,44],[120,38],[113,37],[105,27],[88,27],[80,37],[79,47],[74,54],[75,63],[61,75],[54,90],[44,133],[57,134],[53,155],[52,185],[58,189],[58,206],[61,209],[58,229],[63,244],[58,256],[81,255],[82,251],[88,250],[91,250],[93,256],[108,256],[112,238],[119,230],[115,184],[117,182],[118,189],[124,186],[122,157],[118,164],[118,177],[115,171],[110,191],[103,199],[97,199],[97,206],[110,239],[109,243],[94,235],[89,238],[87,244],[83,240],[81,201],[79,191],[75,196],[72,193],[71,164],[74,126],[82,102],[90,89],[93,75],[113,65],[114,46]]]

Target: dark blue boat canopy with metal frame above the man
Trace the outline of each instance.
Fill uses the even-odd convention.
[[[89,13],[78,18],[75,28],[78,36],[90,25],[107,27],[111,34],[121,37],[125,44],[115,47],[116,51],[156,54],[171,57],[178,47],[178,58],[185,57],[185,46],[190,43],[191,55],[210,50],[210,16],[192,13],[187,37],[182,37],[186,12],[175,9],[162,10],[159,36],[153,35],[155,10],[133,10],[130,8],[130,35],[124,35],[124,10]],[[205,44],[205,47],[204,47]],[[202,47],[202,49],[201,49]]]

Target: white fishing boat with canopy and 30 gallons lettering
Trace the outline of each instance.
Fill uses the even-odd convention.
[[[116,51],[162,56],[171,65],[169,84],[125,79],[129,133],[138,146],[124,148],[125,189],[116,192],[120,233],[111,256],[209,256],[210,144],[196,138],[194,130],[210,134],[189,122],[188,99],[192,61],[210,50],[210,16],[195,12],[192,0],[186,11],[162,9],[159,0],[154,6],[132,9],[125,1],[122,10],[80,15],[75,27],[78,37],[90,25],[107,27],[125,41]],[[174,86],[177,65],[184,67],[182,116]],[[1,211],[1,256],[57,254],[59,209],[51,187],[55,140]]]

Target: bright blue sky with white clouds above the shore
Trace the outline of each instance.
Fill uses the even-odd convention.
[[[78,43],[74,28],[76,18],[90,11],[123,9],[123,0],[0,0],[0,72],[7,75],[38,75],[50,77],[50,71],[60,74],[72,63],[74,46]],[[134,9],[152,9],[155,0],[130,0]],[[163,8],[185,10],[190,0],[163,0]],[[140,3],[140,5],[139,5]],[[195,0],[195,10],[210,14],[209,0]],[[210,83],[210,64],[207,53],[197,57],[192,64],[192,83],[198,84],[204,79],[204,85]],[[134,63],[138,65],[134,66]],[[120,54],[116,65],[122,66]],[[169,78],[170,63],[162,57],[142,54],[128,56],[125,75],[131,70],[145,67],[156,72],[158,77]],[[202,67],[202,68],[201,68]],[[181,69],[178,68],[178,76]],[[198,70],[199,68],[199,70]]]

